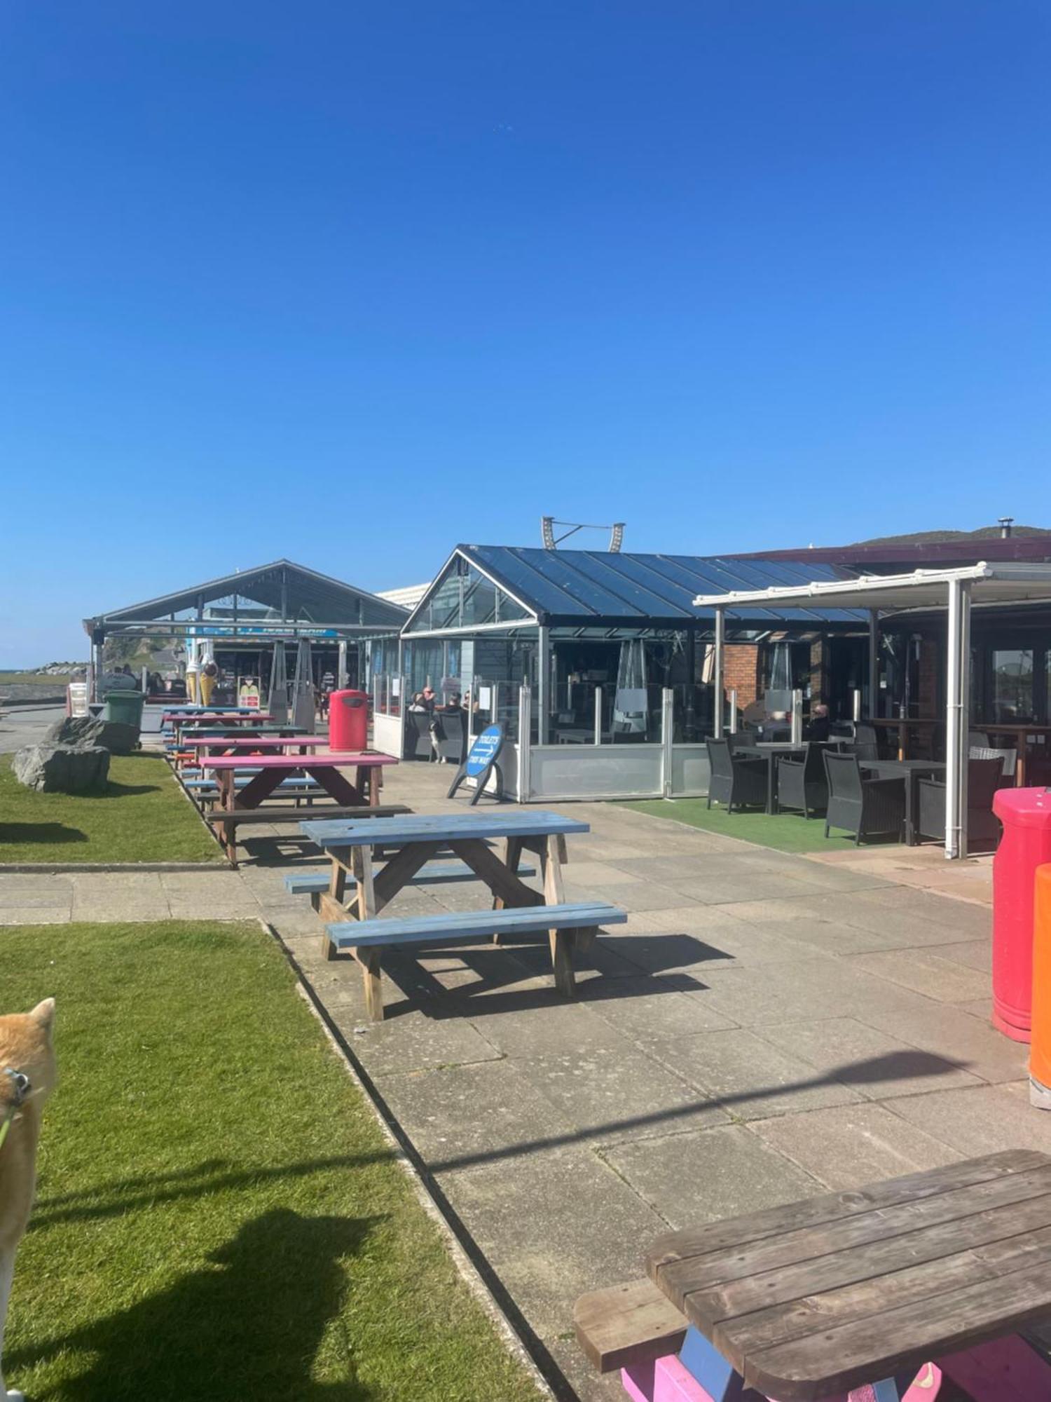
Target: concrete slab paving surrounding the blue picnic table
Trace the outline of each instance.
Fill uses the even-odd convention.
[[[405,764],[385,796],[436,812],[446,768]],[[540,945],[392,956],[387,1021],[360,974],[321,958],[282,875],[304,848],[254,837],[241,872],[0,878],[0,921],[265,913],[434,1180],[579,1395],[582,1291],[636,1276],[666,1227],[1009,1145],[1051,1151],[1026,1050],[988,1023],[989,913],[977,901],[572,805],[566,897],[624,906],[580,974],[551,987]],[[262,858],[259,861],[259,858]],[[475,886],[392,910],[478,908]]]

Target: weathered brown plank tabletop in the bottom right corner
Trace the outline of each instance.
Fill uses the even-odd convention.
[[[646,1269],[746,1384],[814,1402],[1051,1314],[1051,1158],[1010,1150],[670,1232]]]

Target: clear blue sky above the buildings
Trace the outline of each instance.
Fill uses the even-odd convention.
[[[1051,526],[1045,0],[7,0],[0,665],[544,512]]]

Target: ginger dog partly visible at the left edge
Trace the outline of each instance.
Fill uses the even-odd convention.
[[[14,1256],[36,1186],[41,1110],[56,1078],[53,1025],[53,998],[38,1002],[32,1012],[0,1018],[0,1359]],[[3,1371],[0,1398],[24,1402],[21,1392],[7,1391]]]

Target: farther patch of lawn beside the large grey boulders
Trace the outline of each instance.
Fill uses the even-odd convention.
[[[105,794],[38,794],[0,757],[4,862],[221,862],[223,855],[167,763],[115,754]]]

